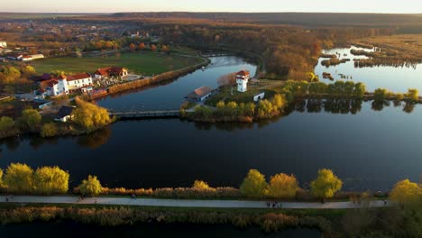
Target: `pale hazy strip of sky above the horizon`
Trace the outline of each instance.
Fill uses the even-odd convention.
[[[329,12],[421,14],[422,0],[7,0],[0,12]]]

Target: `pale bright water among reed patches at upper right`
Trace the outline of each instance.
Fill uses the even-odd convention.
[[[357,47],[352,48],[341,48],[325,50],[327,54],[340,53],[340,59],[351,59],[348,62],[337,66],[330,66],[326,68],[321,65],[319,59],[318,65],[315,68],[316,75],[319,76],[322,82],[330,83],[329,79],[324,79],[322,74],[324,72],[331,73],[335,80],[341,79],[339,74],[344,74],[349,77],[349,80],[356,82],[362,82],[366,85],[366,89],[373,91],[378,87],[384,87],[390,91],[397,93],[404,93],[408,91],[408,88],[417,88],[419,92],[422,92],[422,64],[417,64],[415,68],[412,67],[372,67],[372,68],[354,68],[353,59],[366,59],[365,56],[354,56],[350,53],[350,50],[367,50]],[[371,50],[367,50],[371,51]],[[344,56],[346,54],[347,56]],[[352,79],[350,79],[352,77]],[[334,82],[335,82],[334,80]],[[341,79],[347,80],[347,79]]]

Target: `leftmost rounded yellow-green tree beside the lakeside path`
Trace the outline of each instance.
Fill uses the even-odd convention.
[[[33,170],[26,164],[12,163],[5,170],[4,182],[9,192],[30,193],[33,190]]]

